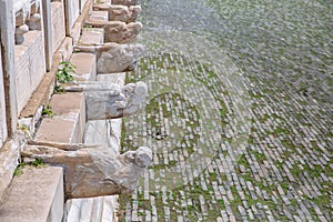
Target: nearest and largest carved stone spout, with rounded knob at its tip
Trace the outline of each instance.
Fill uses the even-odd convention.
[[[131,193],[152,160],[151,150],[145,147],[117,155],[109,148],[77,145],[77,150],[63,150],[63,144],[57,147],[29,145],[22,157],[63,167],[68,199]]]

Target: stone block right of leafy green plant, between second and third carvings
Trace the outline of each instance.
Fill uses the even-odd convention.
[[[73,53],[70,60],[77,67],[75,80],[95,80],[97,64],[93,53]]]

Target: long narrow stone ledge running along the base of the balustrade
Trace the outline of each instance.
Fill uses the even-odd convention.
[[[85,2],[84,9],[77,19],[70,36],[62,40],[61,46],[53,53],[50,71],[44,73],[38,88],[31,94],[28,104],[19,114],[18,132],[0,149],[0,205],[2,205],[4,200],[8,198],[7,194],[9,193],[14,179],[14,171],[19,165],[20,153],[27,145],[24,131],[36,131],[34,125],[40,121],[42,108],[50,102],[56,84],[56,74],[59,63],[61,61],[69,61],[73,51],[73,44],[79,40],[78,38],[80,37],[84,24],[83,21],[92,10],[93,3],[94,0],[88,0]],[[28,129],[22,129],[22,125]]]

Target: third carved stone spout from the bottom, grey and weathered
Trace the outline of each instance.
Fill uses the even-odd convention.
[[[77,46],[77,51],[97,53],[98,73],[131,71],[143,53],[142,44],[104,43],[99,46]]]

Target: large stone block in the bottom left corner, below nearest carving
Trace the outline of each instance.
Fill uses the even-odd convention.
[[[26,167],[0,208],[3,222],[60,222],[63,216],[62,168]]]

